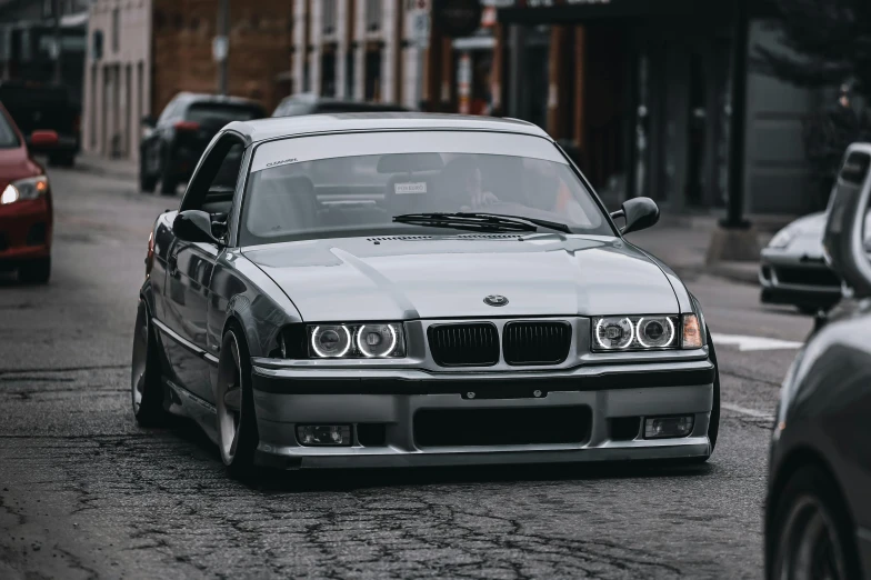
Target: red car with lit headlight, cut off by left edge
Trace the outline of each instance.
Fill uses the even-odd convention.
[[[30,136],[34,149],[57,143],[54,131]],[[22,282],[48,282],[52,222],[46,170],[31,158],[24,136],[0,104],[0,270],[18,270]]]

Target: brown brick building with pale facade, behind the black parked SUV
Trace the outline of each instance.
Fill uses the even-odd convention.
[[[219,0],[96,0],[88,32],[83,144],[139,158],[141,119],[179,91],[216,92]],[[230,1],[228,91],[267,109],[290,93],[293,3]]]

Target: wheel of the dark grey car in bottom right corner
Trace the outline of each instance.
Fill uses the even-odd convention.
[[[824,469],[807,464],[793,472],[774,510],[770,579],[861,578],[849,511]]]

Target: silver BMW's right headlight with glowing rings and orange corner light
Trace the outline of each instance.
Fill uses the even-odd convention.
[[[594,351],[698,349],[701,329],[695,314],[601,317],[593,319]]]

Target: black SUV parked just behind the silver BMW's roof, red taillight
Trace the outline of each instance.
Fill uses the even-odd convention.
[[[267,117],[257,102],[238,97],[182,92],[158,119],[146,116],[140,143],[139,189],[174,194],[190,179],[193,168],[212,137],[227,123]]]

